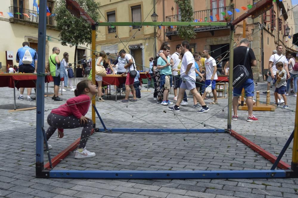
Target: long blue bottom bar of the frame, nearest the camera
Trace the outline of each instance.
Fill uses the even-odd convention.
[[[224,179],[224,178],[283,178],[284,170],[246,171],[80,171],[51,170],[52,178],[96,179]]]

